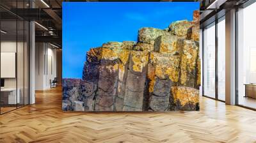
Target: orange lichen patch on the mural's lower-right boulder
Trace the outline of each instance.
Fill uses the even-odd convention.
[[[192,87],[175,86],[172,87],[174,102],[180,102],[184,106],[188,103],[199,103],[199,90]]]

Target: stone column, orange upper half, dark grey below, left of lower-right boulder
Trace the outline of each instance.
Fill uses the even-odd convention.
[[[153,111],[170,110],[170,91],[179,80],[179,56],[151,52],[148,63],[149,100],[148,109]]]

